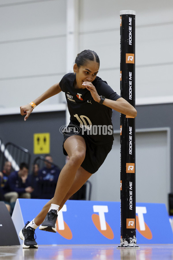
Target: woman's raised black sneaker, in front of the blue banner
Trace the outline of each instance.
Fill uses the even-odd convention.
[[[57,211],[56,209],[51,209],[44,219],[43,223],[39,226],[40,230],[49,231],[49,232],[57,232]]]

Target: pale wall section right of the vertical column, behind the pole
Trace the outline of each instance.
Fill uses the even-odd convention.
[[[136,11],[136,103],[141,98],[173,97],[171,0],[80,1],[80,51],[92,49],[98,53],[98,76],[119,93],[120,10]]]

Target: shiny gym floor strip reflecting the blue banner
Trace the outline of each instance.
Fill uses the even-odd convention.
[[[38,249],[0,246],[4,260],[172,260],[173,244],[138,245],[140,249],[117,249],[119,245],[39,245]]]

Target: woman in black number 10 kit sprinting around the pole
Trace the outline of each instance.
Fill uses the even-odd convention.
[[[20,231],[23,248],[38,248],[34,239],[38,226],[43,231],[57,231],[58,211],[103,164],[114,140],[112,109],[132,117],[137,115],[132,105],[97,77],[99,65],[97,53],[82,51],[76,57],[74,73],[67,73],[33,102],[20,107],[21,115],[27,120],[37,105],[63,91],[70,113],[63,141],[63,153],[69,156],[69,161],[61,170],[54,197]]]

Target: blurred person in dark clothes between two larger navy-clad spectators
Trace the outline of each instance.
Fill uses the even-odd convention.
[[[40,190],[38,171],[39,171],[39,165],[34,164],[33,171],[28,176],[29,184],[34,189],[34,191],[31,192],[31,198],[40,198],[41,190]]]

